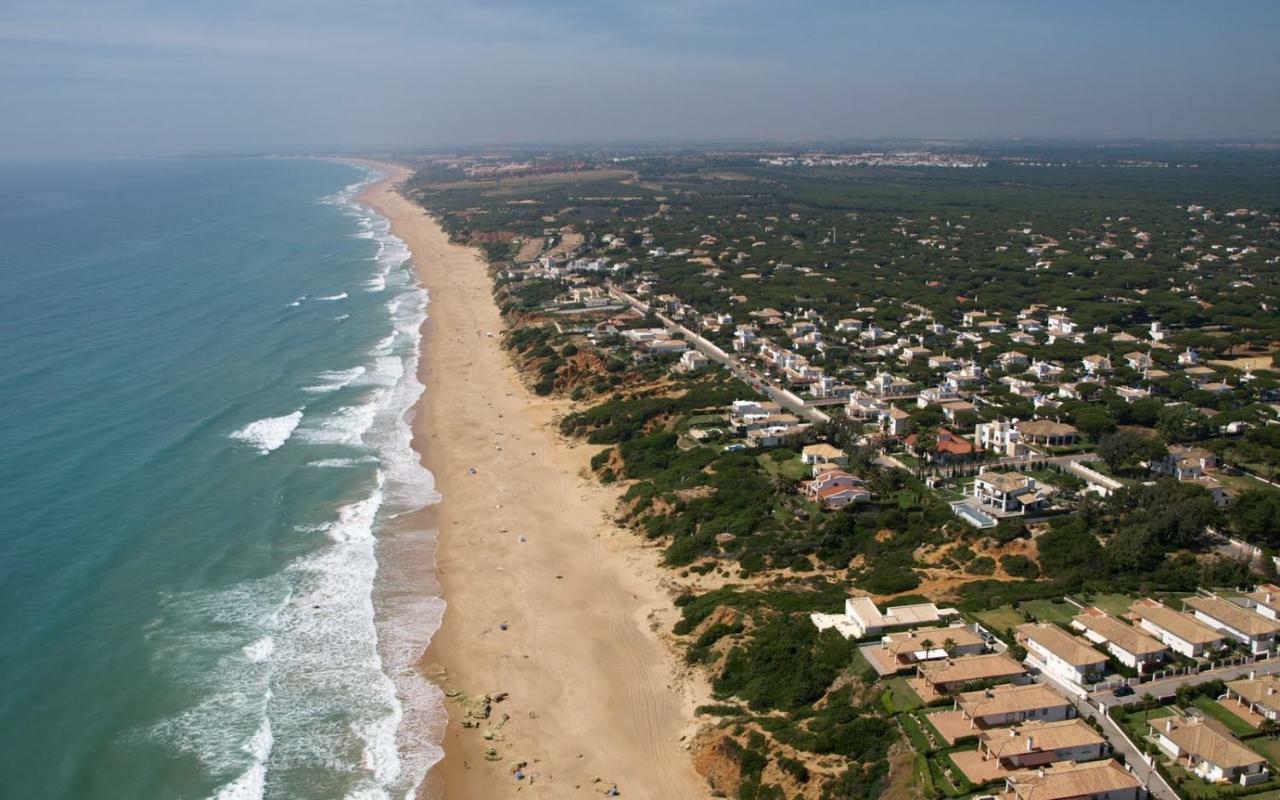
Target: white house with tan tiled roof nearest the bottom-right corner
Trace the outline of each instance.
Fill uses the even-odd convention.
[[[1271,777],[1266,759],[1216,719],[1161,717],[1151,723],[1151,737],[1165,755],[1211,783],[1253,786]]]

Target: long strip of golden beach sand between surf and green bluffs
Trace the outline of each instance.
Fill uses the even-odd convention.
[[[448,701],[424,795],[590,797],[616,783],[628,799],[707,797],[686,751],[705,686],[662,640],[676,612],[658,553],[613,525],[617,489],[586,472],[598,448],[561,438],[567,402],[521,384],[485,264],[394,191],[406,175],[364,201],[392,220],[430,292],[413,430],[443,495],[424,521],[440,531],[448,611],[424,668],[444,689],[508,692],[480,730]],[[483,737],[508,716],[500,741]],[[484,758],[490,746],[502,760]]]

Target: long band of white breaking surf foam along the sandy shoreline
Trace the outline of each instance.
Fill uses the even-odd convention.
[[[202,703],[161,732],[228,781],[218,800],[306,796],[289,785],[300,773],[332,776],[348,800],[411,797],[443,755],[443,694],[417,668],[444,612],[438,593],[424,590],[434,532],[410,527],[416,517],[406,515],[439,499],[411,448],[429,298],[389,223],[353,202],[365,183],[321,202],[356,216],[379,243],[367,288],[393,294],[385,305],[392,332],[361,367],[323,372],[307,387],[317,394],[366,387],[362,397],[328,413],[310,410],[305,420],[300,410],[283,438],[253,443],[275,449],[293,435],[351,447],[307,466],[376,463],[374,481],[328,520],[285,521],[296,547],[311,549],[278,575],[169,603],[192,618],[164,630],[201,632],[156,648],[157,663],[195,676],[205,690]],[[211,653],[223,654],[214,666]]]

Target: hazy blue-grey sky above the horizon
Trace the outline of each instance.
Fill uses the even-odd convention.
[[[0,157],[1280,137],[1280,1],[0,0]]]

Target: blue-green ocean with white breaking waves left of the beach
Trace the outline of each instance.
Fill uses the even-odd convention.
[[[374,175],[0,164],[0,796],[404,797],[439,759],[428,297]]]

